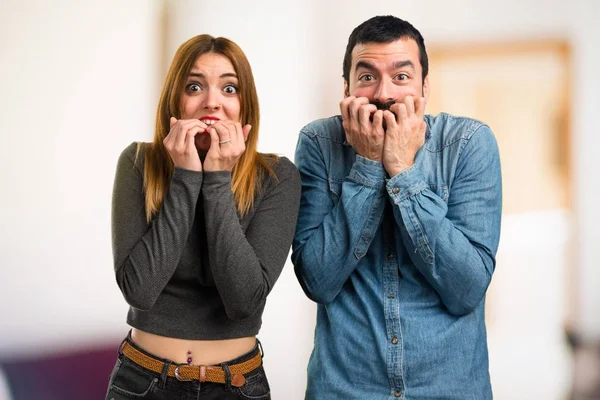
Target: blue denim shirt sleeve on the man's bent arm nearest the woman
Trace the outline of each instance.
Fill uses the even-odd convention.
[[[366,254],[381,222],[385,170],[380,162],[357,156],[335,203],[316,138],[300,132],[295,161],[302,196],[292,262],[306,295],[328,304]]]

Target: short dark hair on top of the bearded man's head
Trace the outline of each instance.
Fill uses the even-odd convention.
[[[429,60],[425,50],[425,40],[421,33],[400,18],[392,15],[373,17],[356,28],[348,38],[346,54],[344,55],[344,79],[350,82],[350,67],[352,65],[352,50],[361,43],[390,43],[398,39],[413,39],[419,46],[419,61],[423,70],[423,81],[429,72]]]

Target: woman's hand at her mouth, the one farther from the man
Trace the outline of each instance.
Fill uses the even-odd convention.
[[[171,129],[163,139],[163,144],[176,167],[192,171],[202,171],[202,163],[196,149],[196,135],[207,128],[198,119],[170,119]]]

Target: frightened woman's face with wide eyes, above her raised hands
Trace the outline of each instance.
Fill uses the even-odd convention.
[[[181,96],[181,119],[199,119],[206,124],[219,120],[240,121],[238,78],[229,59],[205,53],[196,59]],[[196,135],[198,150],[207,151],[210,135]]]

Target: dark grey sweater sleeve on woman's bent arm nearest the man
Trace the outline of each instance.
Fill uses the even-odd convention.
[[[287,158],[275,168],[244,234],[231,173],[205,172],[202,195],[208,258],[225,312],[232,320],[253,315],[265,303],[287,259],[300,202],[300,177]]]

